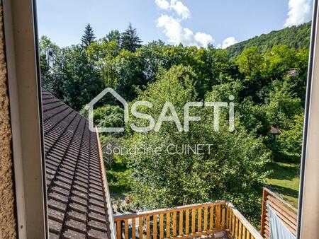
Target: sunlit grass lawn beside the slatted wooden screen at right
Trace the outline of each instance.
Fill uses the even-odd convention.
[[[279,194],[294,207],[298,207],[299,192],[299,163],[276,162],[267,165],[268,170],[272,170],[267,178],[269,190]]]

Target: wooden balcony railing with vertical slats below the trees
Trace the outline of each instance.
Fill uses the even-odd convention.
[[[232,204],[218,201],[114,216],[117,239],[215,238],[261,239]]]

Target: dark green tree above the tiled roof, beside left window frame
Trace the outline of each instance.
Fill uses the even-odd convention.
[[[41,37],[40,67],[43,88],[74,110],[80,110],[103,90],[99,72],[79,45],[60,49]]]

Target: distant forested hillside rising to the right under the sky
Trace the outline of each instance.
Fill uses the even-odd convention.
[[[227,48],[230,57],[237,57],[243,49],[257,47],[258,52],[264,52],[275,45],[286,45],[295,49],[309,47],[311,22],[282,30],[274,30],[243,42],[238,42]]]

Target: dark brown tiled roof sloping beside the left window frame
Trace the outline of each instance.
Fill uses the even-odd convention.
[[[87,120],[43,91],[50,238],[109,238],[96,133]]]

